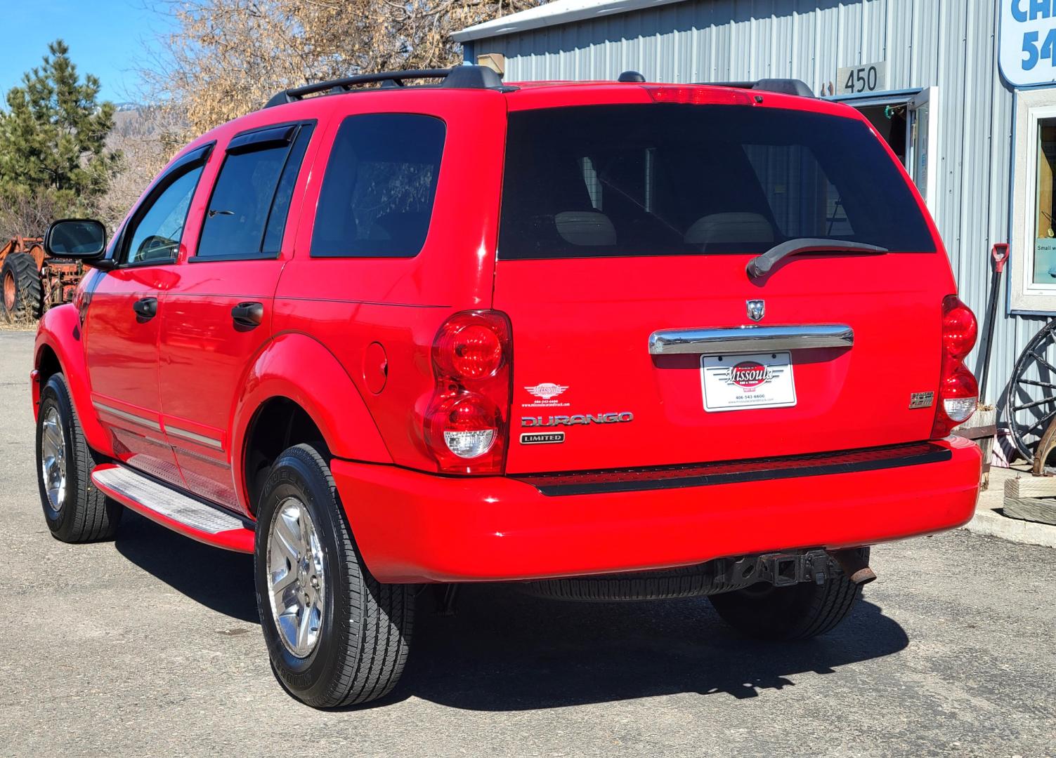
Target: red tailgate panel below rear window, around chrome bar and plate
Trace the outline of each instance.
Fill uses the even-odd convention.
[[[955,290],[945,258],[804,256],[760,285],[744,276],[751,257],[499,260],[495,308],[509,314],[516,346],[514,420],[635,415],[631,424],[562,427],[560,446],[512,445],[507,472],[791,455],[831,450],[834,440],[843,449],[926,440],[935,409],[910,409],[908,399],[932,389],[940,373],[942,298]],[[631,281],[633,291],[621,284]],[[650,355],[649,334],[743,325],[744,303],[754,297],[766,299],[763,324],[845,324],[854,346],[793,352],[791,408],[705,413],[700,356]],[[568,388],[555,399],[562,406],[530,394],[544,382]]]

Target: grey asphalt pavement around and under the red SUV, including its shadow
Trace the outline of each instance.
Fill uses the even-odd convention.
[[[706,600],[422,596],[396,692],[314,711],[271,675],[250,557],[131,512],[116,542],[52,539],[32,346],[0,331],[0,755],[1056,755],[1056,551],[963,530],[874,548],[851,618],[796,644]]]

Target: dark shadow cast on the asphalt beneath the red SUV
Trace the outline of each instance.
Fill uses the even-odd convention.
[[[252,558],[199,544],[126,512],[117,549],[173,589],[216,613],[259,623]],[[755,697],[794,688],[798,674],[898,653],[909,640],[866,599],[833,631],[768,644],[734,635],[706,599],[574,603],[503,584],[467,585],[458,613],[436,611],[423,589],[411,657],[396,691],[361,707],[410,697],[473,711],[529,711],[699,693]],[[266,655],[263,647],[260,654]]]

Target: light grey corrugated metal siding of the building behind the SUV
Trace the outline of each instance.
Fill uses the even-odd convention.
[[[636,70],[672,82],[794,77],[818,92],[840,66],[886,60],[888,89],[937,85],[936,220],[961,297],[982,320],[991,246],[1008,238],[1013,93],[998,75],[998,12],[997,0],[691,0],[473,46],[506,56],[507,81]],[[1004,297],[1002,288],[991,400],[1044,322],[1004,317]]]

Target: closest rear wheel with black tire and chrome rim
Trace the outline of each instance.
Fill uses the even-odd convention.
[[[407,662],[414,587],[370,575],[316,448],[279,456],[257,519],[257,606],[279,681],[320,708],[392,692]]]

